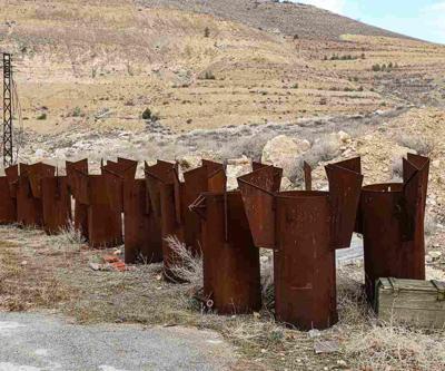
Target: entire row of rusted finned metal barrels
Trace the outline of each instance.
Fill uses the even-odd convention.
[[[280,192],[281,169],[257,163],[230,192],[222,164],[202,160],[180,176],[177,164],[158,160],[140,179],[137,165],[118,158],[92,175],[87,159],[67,162],[65,176],[42,163],[9,167],[0,222],[48,234],[73,223],[91,247],[123,241],[127,263],[164,261],[171,281],[178,261],[166,237],[174,235],[202,254],[204,295],[220,314],[261,307],[259,248],[269,248],[276,318],[306,330],[337,321],[335,252],[354,232],[364,236],[369,300],[378,277],[425,279],[426,157],[404,159],[402,183],[365,187],[360,158],[329,164],[326,192],[310,189],[307,165],[306,191],[291,192]]]

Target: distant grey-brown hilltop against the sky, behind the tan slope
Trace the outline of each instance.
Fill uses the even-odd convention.
[[[211,14],[287,36],[338,40],[342,35],[403,37],[313,6],[274,0],[137,0],[148,8]]]

